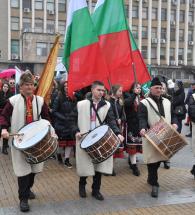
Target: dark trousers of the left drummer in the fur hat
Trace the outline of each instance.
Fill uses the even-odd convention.
[[[35,173],[30,173],[22,177],[18,177],[18,194],[19,199],[28,199],[30,194],[30,189],[34,184]]]

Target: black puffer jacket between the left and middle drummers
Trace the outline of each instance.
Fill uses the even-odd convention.
[[[76,102],[63,94],[59,94],[54,100],[52,118],[59,141],[75,139],[71,130],[74,123],[71,113],[75,107]]]

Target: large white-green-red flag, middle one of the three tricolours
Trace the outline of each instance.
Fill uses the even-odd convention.
[[[98,0],[92,20],[106,59],[110,81],[128,90],[134,81],[129,28],[123,0]]]

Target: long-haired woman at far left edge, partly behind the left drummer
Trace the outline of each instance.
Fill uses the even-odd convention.
[[[0,114],[3,110],[5,103],[7,99],[9,99],[13,94],[10,92],[10,87],[8,83],[2,84],[2,90],[0,91]],[[3,139],[3,145],[2,145],[2,153],[7,155],[8,151],[8,139]]]

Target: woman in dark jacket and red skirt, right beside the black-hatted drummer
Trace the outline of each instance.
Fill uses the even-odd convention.
[[[129,166],[133,175],[139,176],[136,164],[136,154],[142,153],[141,137],[139,135],[138,105],[141,99],[141,85],[134,83],[129,93],[124,94],[125,114],[127,117],[126,152],[129,154]]]

